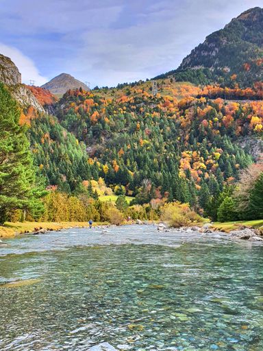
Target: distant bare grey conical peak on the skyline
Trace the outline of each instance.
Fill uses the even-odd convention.
[[[84,90],[89,90],[86,84],[76,80],[72,75],[67,73],[57,75],[57,77],[42,85],[41,88],[49,90],[54,95],[63,95],[69,89],[82,88]]]

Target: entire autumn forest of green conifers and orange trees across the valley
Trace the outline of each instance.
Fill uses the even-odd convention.
[[[262,96],[262,85],[202,88],[166,79],[158,81],[155,96],[151,82],[138,82],[68,90],[61,99],[30,89],[46,113],[21,110],[1,85],[1,133],[6,125],[14,129],[9,141],[1,138],[9,145],[1,147],[2,223],[158,219],[168,203],[187,204],[214,221],[263,217],[262,169],[255,171],[260,164],[254,163],[259,154],[251,156],[249,143],[243,144],[262,139],[262,101],[252,100]],[[16,150],[14,135],[23,149]],[[9,162],[17,179],[6,169]],[[253,173],[249,188],[246,172]],[[14,184],[18,194],[10,202],[5,191],[11,194]],[[116,204],[101,202],[112,194]]]

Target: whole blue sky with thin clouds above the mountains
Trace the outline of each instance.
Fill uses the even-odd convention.
[[[0,53],[40,86],[69,73],[116,86],[176,69],[263,0],[0,0]]]

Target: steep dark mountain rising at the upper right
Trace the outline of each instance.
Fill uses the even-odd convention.
[[[262,80],[263,9],[251,8],[210,34],[184,58],[178,69],[160,77],[168,75],[201,84],[230,83],[232,79],[249,86]]]

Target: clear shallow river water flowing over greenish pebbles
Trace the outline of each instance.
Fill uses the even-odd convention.
[[[0,350],[263,350],[263,246],[153,226],[0,248]],[[136,244],[136,245],[134,245]]]

